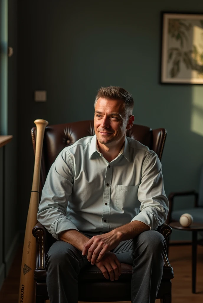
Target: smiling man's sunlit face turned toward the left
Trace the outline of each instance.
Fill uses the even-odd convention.
[[[126,134],[128,117],[125,117],[123,101],[99,98],[95,105],[94,128],[101,144],[121,140]]]

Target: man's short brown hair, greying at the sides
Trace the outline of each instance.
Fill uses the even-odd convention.
[[[108,100],[121,100],[125,109],[126,116],[132,115],[134,100],[133,97],[124,88],[118,86],[101,87],[96,95],[95,105],[98,98],[105,98]]]

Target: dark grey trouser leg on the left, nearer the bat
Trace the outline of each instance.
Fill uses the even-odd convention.
[[[46,258],[51,303],[78,303],[78,275],[88,263],[87,257],[73,245],[62,240],[53,243]]]

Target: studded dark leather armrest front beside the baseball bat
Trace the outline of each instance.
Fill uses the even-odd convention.
[[[37,241],[36,269],[45,269],[45,258],[48,252],[46,228],[39,222],[33,227],[32,234]]]

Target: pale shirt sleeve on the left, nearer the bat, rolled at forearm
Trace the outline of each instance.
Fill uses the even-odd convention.
[[[72,168],[69,151],[63,149],[53,162],[42,190],[37,220],[56,240],[62,231],[78,230],[66,217],[68,199],[73,186]]]

